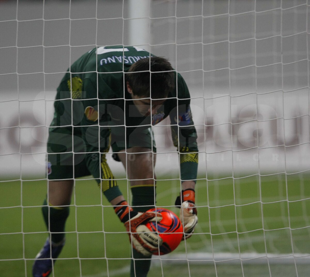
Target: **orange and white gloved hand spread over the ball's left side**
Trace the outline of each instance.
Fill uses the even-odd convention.
[[[157,233],[151,232],[144,224],[147,222],[159,222],[162,219],[160,213],[136,212],[122,201],[114,207],[116,214],[124,223],[132,246],[144,256],[150,256],[158,252],[162,245],[162,238]]]

